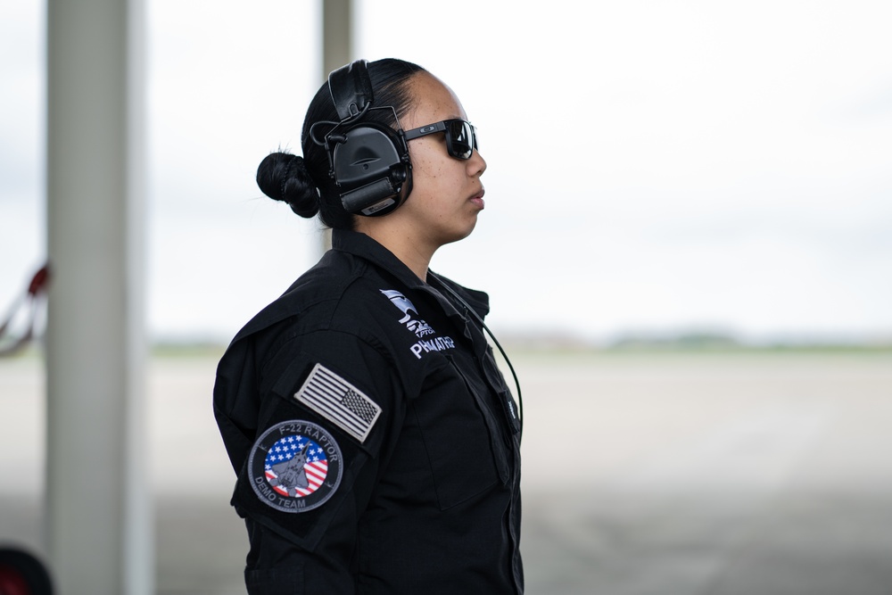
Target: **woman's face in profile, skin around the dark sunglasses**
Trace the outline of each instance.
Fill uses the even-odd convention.
[[[458,97],[440,79],[419,72],[409,81],[415,108],[403,116],[404,129],[420,128],[442,120],[467,120]],[[412,160],[412,192],[392,216],[410,220],[417,241],[429,242],[435,250],[442,244],[467,237],[483,211],[483,184],[480,181],[486,161],[474,151],[460,160],[446,152],[445,133],[421,136],[409,141]]]

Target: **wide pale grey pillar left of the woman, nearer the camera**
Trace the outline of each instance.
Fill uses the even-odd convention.
[[[46,550],[64,594],[154,591],[143,0],[47,0]]]

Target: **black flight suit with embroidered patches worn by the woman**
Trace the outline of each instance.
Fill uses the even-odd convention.
[[[333,245],[219,362],[248,592],[522,593],[521,428],[466,311],[487,295]]]

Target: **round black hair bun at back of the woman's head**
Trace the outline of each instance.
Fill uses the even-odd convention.
[[[287,202],[303,218],[319,211],[316,184],[299,155],[269,153],[257,168],[257,186],[274,201]]]

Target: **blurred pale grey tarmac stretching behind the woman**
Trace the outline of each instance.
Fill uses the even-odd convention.
[[[892,594],[892,353],[512,360],[527,593]],[[245,592],[215,366],[149,369],[158,595]],[[0,361],[0,543],[38,554],[42,375]]]

